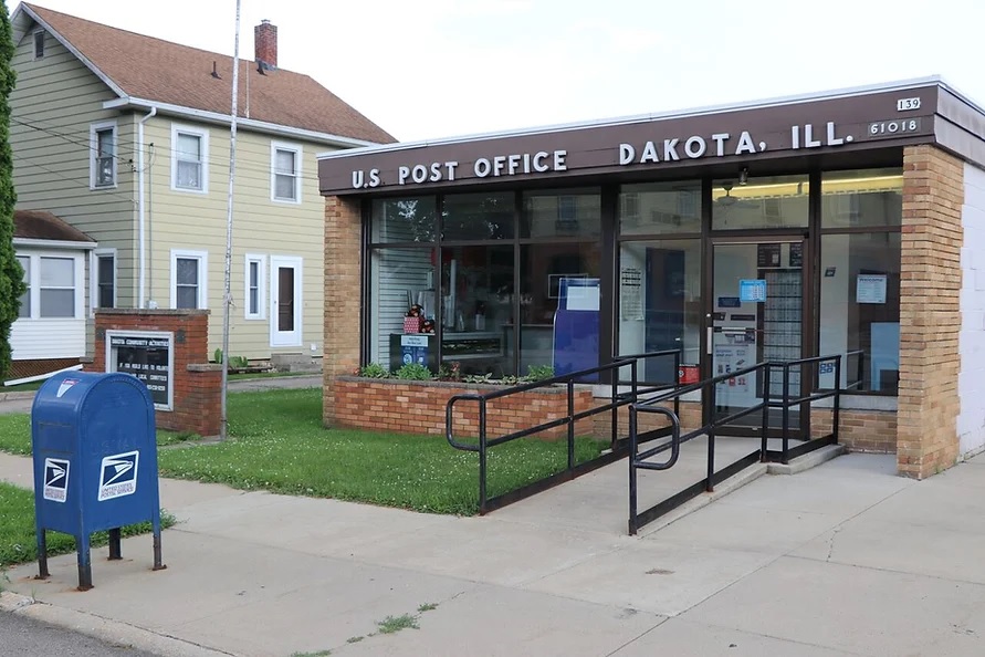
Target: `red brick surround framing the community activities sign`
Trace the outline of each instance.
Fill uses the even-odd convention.
[[[97,310],[95,354],[87,372],[106,372],[106,331],[174,333],[174,409],[155,414],[157,427],[200,436],[219,434],[222,368],[209,364],[209,311]]]

